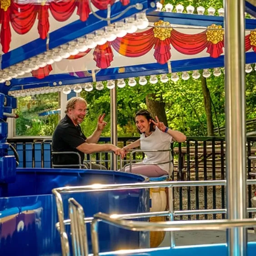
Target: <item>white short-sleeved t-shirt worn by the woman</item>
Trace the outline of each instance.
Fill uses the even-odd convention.
[[[171,149],[172,136],[168,133],[160,131],[157,127],[156,130],[151,133],[150,136],[145,137],[145,134],[141,134],[141,150],[167,150]],[[163,163],[169,161],[170,157],[172,160],[172,156],[170,156],[170,151],[166,152],[145,152],[146,157],[143,162],[150,163]],[[158,164],[158,166],[167,171],[169,173],[170,165],[166,164]],[[171,164],[171,172],[173,170],[173,166]]]

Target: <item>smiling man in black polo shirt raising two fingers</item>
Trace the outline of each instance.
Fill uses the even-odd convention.
[[[67,101],[65,117],[60,120],[52,136],[52,151],[65,152],[72,151],[79,153],[81,163],[83,164],[85,154],[90,154],[100,151],[113,151],[115,155],[125,156],[125,152],[113,144],[96,144],[101,132],[106,126],[104,121],[105,114],[100,115],[95,131],[88,138],[83,134],[80,124],[83,122],[87,112],[87,102],[83,98],[73,97]],[[55,165],[78,165],[79,159],[75,154],[54,154],[53,164]],[[90,169],[89,164],[85,166]],[[101,168],[100,168],[101,167]],[[78,166],[69,166],[68,168],[79,168]],[[92,169],[104,169],[105,166],[92,164]]]

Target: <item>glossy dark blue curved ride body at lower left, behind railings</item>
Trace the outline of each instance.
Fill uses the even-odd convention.
[[[22,211],[23,213],[10,218],[9,221],[1,220],[0,255],[61,255],[60,236],[54,226],[57,222],[55,198],[51,195],[54,187],[141,181],[145,181],[142,176],[116,171],[18,168],[17,181],[9,186],[11,197],[0,198],[0,213],[5,217]],[[81,203],[88,217],[98,211],[108,213],[149,211],[148,190],[90,192],[63,195],[65,218],[68,218],[67,199],[70,196]],[[19,228],[20,221],[24,222],[24,229]],[[88,225],[87,228],[90,246],[90,226]],[[67,232],[70,232],[69,227]],[[99,237],[101,251],[149,246],[147,233],[124,231],[105,224],[99,226]],[[116,243],[117,240],[119,243]]]

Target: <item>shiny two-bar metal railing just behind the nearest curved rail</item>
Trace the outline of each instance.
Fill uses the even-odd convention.
[[[247,185],[252,185],[252,184],[256,184],[256,180],[247,180]],[[55,200],[56,200],[56,205],[57,205],[57,212],[58,212],[58,218],[59,218],[59,222],[56,223],[56,228],[58,229],[58,231],[60,232],[60,240],[61,240],[61,248],[62,248],[62,255],[63,256],[70,256],[70,246],[69,246],[69,242],[68,242],[68,235],[65,231],[65,225],[70,225],[72,222],[72,219],[74,221],[74,218],[72,217],[72,219],[70,218],[69,220],[65,220],[64,219],[64,209],[63,209],[63,201],[62,201],[62,194],[68,194],[68,193],[80,193],[80,192],[92,192],[92,191],[118,191],[118,190],[132,190],[132,189],[149,189],[149,188],[160,188],[160,187],[167,187],[168,188],[168,211],[161,211],[161,212],[147,212],[147,213],[135,213],[135,214],[125,214],[125,215],[115,215],[112,217],[115,217],[115,219],[131,219],[131,218],[145,218],[145,217],[151,217],[151,216],[169,216],[170,221],[174,221],[174,204],[173,204],[173,189],[174,187],[182,187],[182,186],[186,186],[186,187],[197,187],[197,186],[226,186],[226,181],[162,181],[162,182],[147,182],[147,183],[136,183],[136,184],[122,184],[122,185],[118,185],[118,184],[111,184],[111,185],[102,185],[102,184],[95,184],[95,185],[90,185],[90,186],[70,186],[70,187],[62,187],[62,188],[55,188],[52,190],[52,193],[55,196]],[[72,203],[71,206],[69,207],[77,207],[78,210],[77,211],[82,211],[83,215],[80,218],[76,218],[76,220],[81,220],[81,218],[84,219],[83,223],[81,223],[81,221],[76,221],[76,226],[78,225],[85,225],[85,223],[87,222],[91,222],[93,219],[90,218],[84,218],[84,211],[82,210],[82,206],[79,205],[79,203],[77,203],[74,199],[70,199],[70,201]],[[74,203],[75,202],[75,203]],[[250,212],[256,212],[256,208],[251,208],[248,209]],[[211,210],[213,211],[213,210]],[[210,212],[211,212],[210,211]],[[223,212],[226,211],[226,209],[218,209],[217,211]],[[214,212],[214,211],[213,211]],[[184,215],[184,214],[207,214],[207,211],[205,210],[197,210],[197,211],[185,211],[184,213],[182,213],[182,211],[180,211],[178,213],[179,215]],[[176,221],[175,221],[176,222]],[[169,223],[169,222],[168,222]],[[190,223],[187,221],[182,222],[184,223],[184,225],[186,225],[186,223]],[[215,223],[215,222],[211,222],[208,221],[206,223]],[[226,223],[225,221],[221,222],[221,223]],[[156,223],[157,224],[157,223]],[[254,226],[254,224],[256,224],[255,222],[250,222],[249,226]],[[155,224],[154,224],[155,225]],[[232,224],[234,225],[234,224]],[[151,223],[151,226],[153,226],[153,224]],[[78,230],[78,229],[76,229]],[[82,227],[80,227],[79,230],[82,230]],[[79,231],[80,232],[80,231]],[[72,232],[73,234],[73,232]],[[80,233],[79,233],[80,234]],[[73,234],[74,236],[74,234]],[[93,235],[93,237],[95,236],[95,234]],[[76,236],[79,237],[79,236]],[[80,241],[81,238],[79,238]],[[78,246],[80,243],[75,242],[72,240],[73,246]],[[170,244],[171,247],[175,246],[175,236],[173,234],[173,232],[171,232],[171,236],[170,236]],[[94,246],[98,246],[98,245],[94,245]],[[96,248],[95,247],[95,248]],[[81,251],[82,249],[80,249]]]

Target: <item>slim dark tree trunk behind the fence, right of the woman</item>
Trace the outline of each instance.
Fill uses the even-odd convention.
[[[204,105],[206,110],[206,120],[207,120],[207,136],[214,136],[213,131],[213,121],[211,112],[211,95],[210,90],[207,87],[206,78],[201,75],[201,85],[204,95]]]

